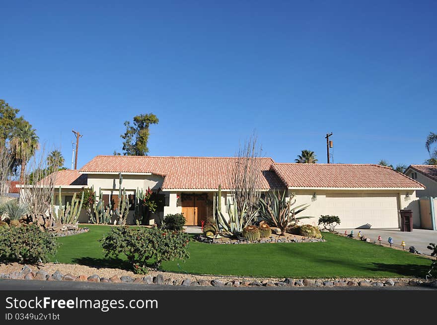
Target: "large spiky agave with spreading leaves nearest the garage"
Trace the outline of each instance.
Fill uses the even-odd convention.
[[[287,191],[282,194],[279,191],[273,191],[268,193],[266,198],[260,198],[260,217],[265,220],[269,226],[278,227],[281,229],[282,234],[286,229],[295,224],[299,219],[305,219],[310,217],[296,217],[296,214],[302,212],[309,207],[309,204],[300,204],[293,206],[296,200],[293,200],[294,194],[291,194],[287,200]]]

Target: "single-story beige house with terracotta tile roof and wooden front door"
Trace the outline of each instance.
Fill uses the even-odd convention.
[[[276,163],[272,158],[258,158],[261,166],[260,191],[274,189],[294,193],[296,204],[310,203],[302,215],[304,222],[317,224],[320,215],[338,215],[341,228],[398,228],[399,209],[418,213],[416,191],[425,187],[391,168],[370,164],[296,164]],[[233,157],[153,157],[96,156],[80,170],[56,172],[55,185],[62,186],[62,200],[71,200],[82,187],[94,187],[104,200],[118,195],[119,173],[122,187],[131,202],[138,190],[163,195],[164,206],[149,223],[164,215],[183,213],[187,225],[201,225],[212,218],[218,187],[221,185],[222,210],[232,197],[229,191],[229,166]],[[416,202],[416,203],[415,203]],[[131,207],[127,222],[134,224]],[[81,215],[81,222],[87,222]]]

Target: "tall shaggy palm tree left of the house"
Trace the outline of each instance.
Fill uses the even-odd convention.
[[[21,165],[20,182],[23,182],[27,161],[35,154],[39,146],[38,136],[35,129],[25,122],[14,132],[10,143],[17,165]]]

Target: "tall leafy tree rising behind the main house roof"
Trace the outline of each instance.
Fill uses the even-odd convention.
[[[123,141],[123,154],[125,156],[146,156],[148,153],[147,141],[151,124],[158,124],[159,120],[154,114],[140,114],[134,117],[133,126],[129,121],[124,123],[126,132],[120,137]],[[116,154],[116,152],[114,152]]]

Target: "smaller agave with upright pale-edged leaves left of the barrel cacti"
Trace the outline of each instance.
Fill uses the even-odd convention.
[[[217,211],[219,232],[225,236],[240,236],[243,229],[251,225],[255,218],[255,214],[248,215],[245,204],[243,204],[241,212],[238,213],[237,205],[231,204],[229,200],[227,201],[227,211],[229,214],[229,220],[227,220],[221,210]]]

